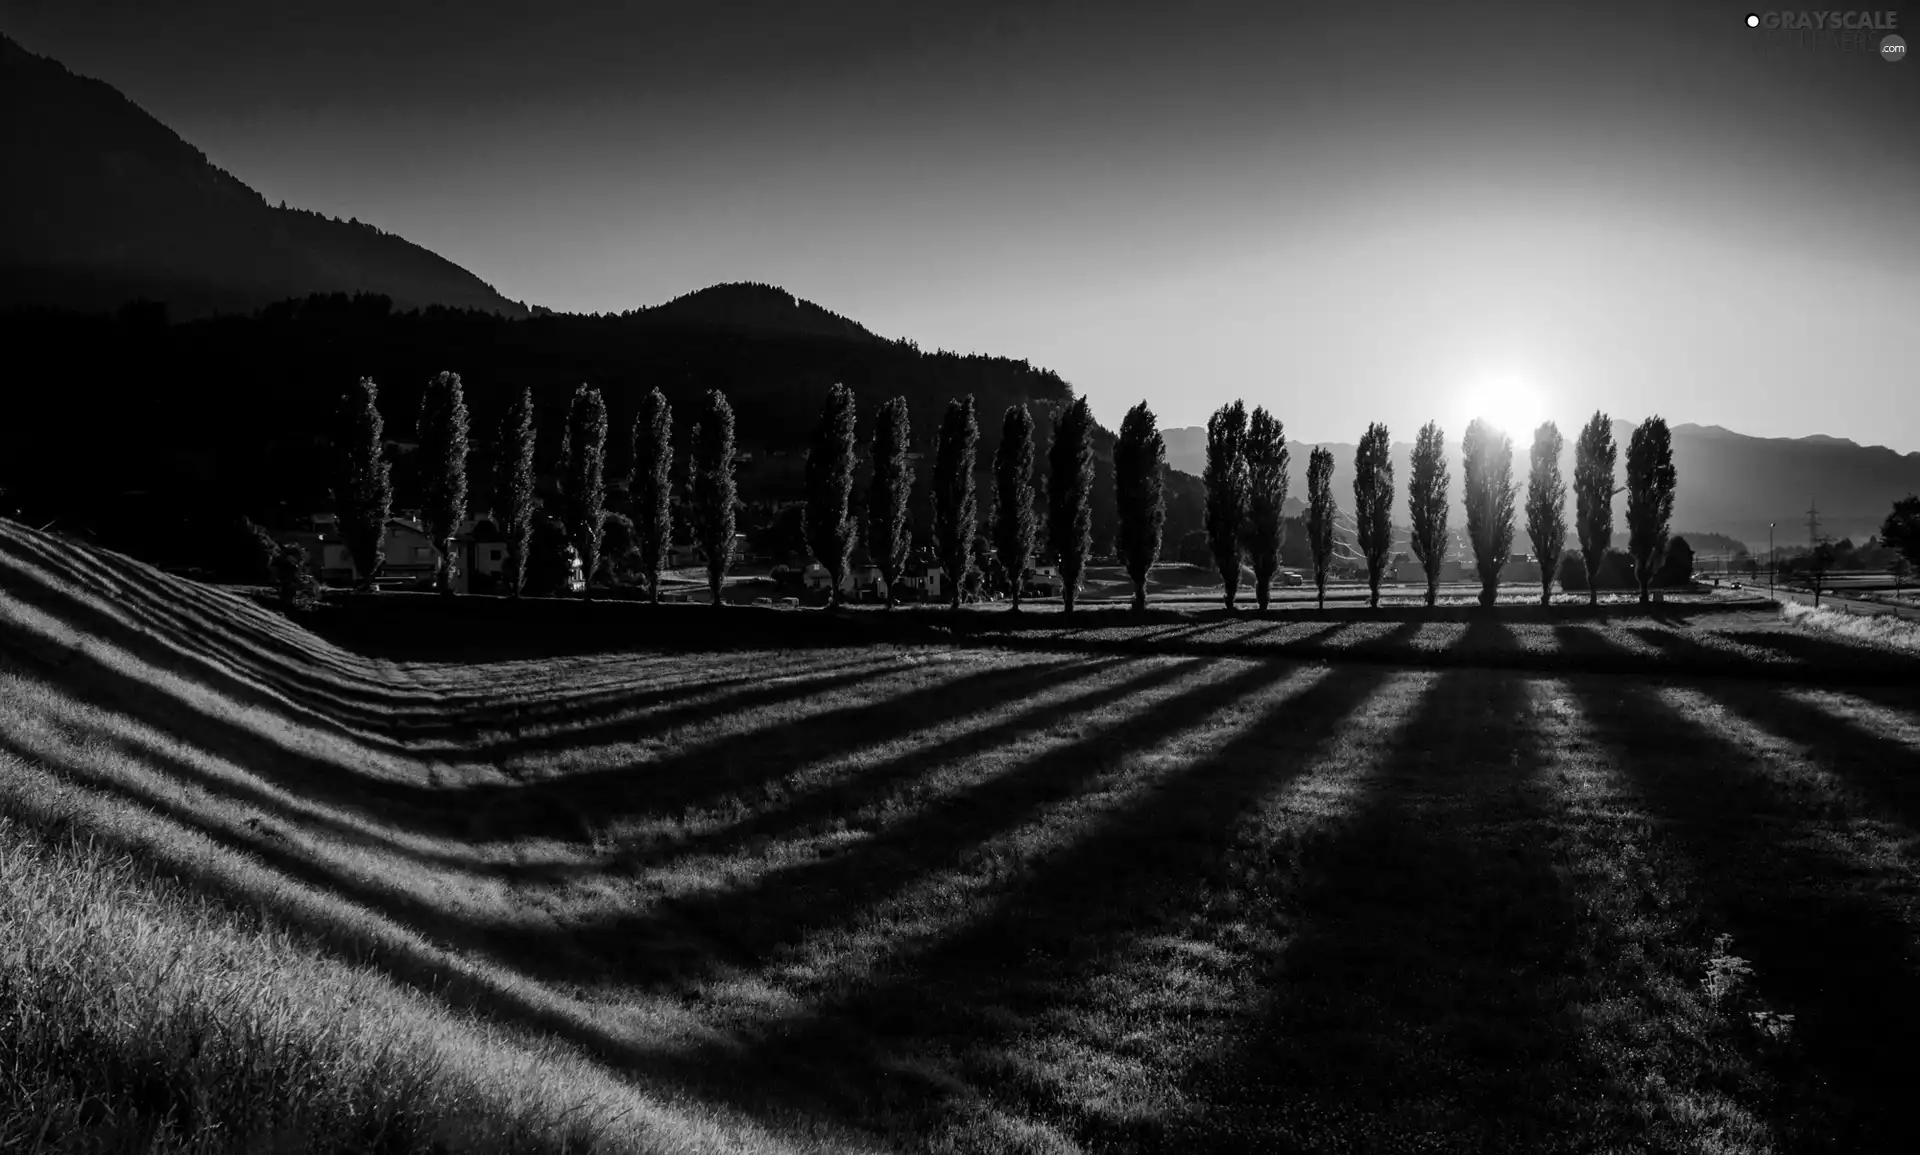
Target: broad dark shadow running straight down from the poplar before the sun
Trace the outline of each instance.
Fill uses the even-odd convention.
[[[1438,675],[1352,817],[1267,863],[1298,934],[1258,961],[1258,1023],[1183,1080],[1204,1107],[1140,1149],[1632,1143],[1644,1122],[1565,1015],[1580,911],[1528,714],[1521,673]]]

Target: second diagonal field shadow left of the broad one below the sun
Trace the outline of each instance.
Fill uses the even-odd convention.
[[[1127,683],[1142,693],[1194,673],[1196,664],[1165,664]],[[956,865],[972,848],[1029,815],[1071,798],[1129,752],[1194,725],[1221,706],[1286,677],[1279,666],[1248,666],[1144,706],[1117,723],[962,787],[877,829],[831,856],[772,867],[749,884],[680,898],[645,915],[614,915],[566,925],[516,942],[492,929],[488,940],[530,975],[605,973],[624,984],[689,984],[714,965],[756,969],[808,934],[837,927],[862,909]],[[1029,725],[1073,718],[1071,702]],[[935,750],[929,766],[941,762]],[[893,767],[897,773],[899,767]]]

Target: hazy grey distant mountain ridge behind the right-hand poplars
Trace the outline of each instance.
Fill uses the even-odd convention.
[[[1459,434],[1448,430],[1450,468],[1453,472],[1455,530],[1465,526],[1461,501]],[[1572,437],[1576,430],[1563,428],[1567,451],[1563,472],[1572,478]],[[1613,422],[1620,445],[1619,478],[1626,478],[1626,439],[1634,424]],[[1167,464],[1200,474],[1206,468],[1206,430],[1187,426],[1164,430]],[[1845,437],[1811,434],[1807,437],[1749,437],[1722,426],[1680,424],[1672,428],[1674,470],[1680,487],[1674,495],[1676,531],[1726,533],[1751,549],[1766,547],[1766,524],[1774,522],[1778,545],[1797,545],[1807,539],[1809,503],[1820,510],[1820,530],[1834,537],[1864,539],[1880,528],[1895,499],[1920,493],[1920,453],[1895,453],[1882,445],[1857,445]],[[1308,453],[1311,445],[1288,443],[1292,468],[1288,493],[1306,497]],[[1354,503],[1354,445],[1329,443],[1334,457],[1334,497],[1342,508]],[[1405,522],[1407,462],[1411,441],[1394,443],[1396,522]],[[1515,445],[1515,480],[1526,476],[1526,445]],[[1626,530],[1626,497],[1615,501],[1615,530]],[[1526,547],[1524,530],[1519,533]]]

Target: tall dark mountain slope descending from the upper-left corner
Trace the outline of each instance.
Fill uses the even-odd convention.
[[[371,292],[524,317],[472,272],[359,221],[273,207],[113,86],[0,36],[0,303],[173,317]]]

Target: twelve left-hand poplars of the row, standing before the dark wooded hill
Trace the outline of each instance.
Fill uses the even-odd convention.
[[[856,524],[852,510],[854,483],[854,395],[847,386],[828,391],[826,407],[812,434],[806,455],[806,543],[814,558],[828,570],[833,601],[839,602],[841,583],[851,570],[856,537],[866,539],[868,554],[887,587],[887,604],[895,604],[895,583],[906,574],[912,547],[908,501],[914,489],[910,459],[912,428],[906,397],[893,397],[879,407],[872,432],[872,489],[866,503],[866,526]],[[428,382],[419,412],[420,524],[436,551],[436,583],[451,589],[453,535],[468,512],[468,412],[455,372],[442,372]],[[672,432],[674,414],[666,397],[653,389],[641,399],[628,432],[632,439],[634,476],[632,549],[647,579],[653,601],[660,597],[660,572],[672,545]],[[1066,606],[1071,612],[1079,578],[1092,549],[1092,412],[1079,399],[1066,407],[1054,422],[1048,447],[1048,528],[1058,543],[1060,576],[1066,587]],[[507,411],[499,434],[493,478],[490,478],[490,507],[495,528],[505,539],[505,579],[513,597],[526,583],[534,524],[540,501],[534,483],[534,397],[522,389]],[[371,378],[344,399],[340,426],[340,476],[334,485],[340,533],[355,568],[372,578],[384,558],[386,520],[392,512],[390,466],[382,457],[384,422],[378,409],[378,386]],[[979,533],[979,503],[973,464],[979,447],[979,426],[973,397],[948,403],[941,422],[931,495],[933,547],[948,579],[950,604],[960,604],[962,578],[973,564],[972,545]],[[707,558],[712,604],[724,604],[720,589],[733,562],[735,485],[733,485],[733,409],[720,389],[710,389],[689,437],[687,505],[693,537]],[[559,491],[566,539],[588,576],[586,597],[593,597],[591,576],[599,568],[601,547],[609,524],[607,510],[607,405],[599,389],[580,386],[566,411],[561,439]],[[1160,493],[1165,445],[1146,405],[1127,414],[1121,443],[1116,451],[1121,464],[1121,549],[1135,574],[1137,604],[1146,604],[1146,570],[1160,553],[1165,508]],[[1131,462],[1131,464],[1129,464]],[[1033,416],[1025,405],[1006,411],[1000,449],[995,455],[996,503],[993,541],[1000,562],[1016,578],[1014,606],[1020,604],[1020,576],[1035,553],[1037,512],[1033,470]],[[1129,485],[1127,478],[1133,478]],[[1129,516],[1139,514],[1139,516]]]

